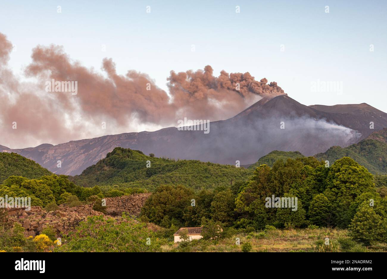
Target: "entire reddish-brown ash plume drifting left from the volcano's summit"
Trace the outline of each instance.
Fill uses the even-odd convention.
[[[184,117],[216,121],[234,116],[262,97],[284,94],[276,82],[257,81],[248,72],[221,71],[215,77],[211,66],[171,71],[167,93],[144,73],[129,70],[120,75],[108,58],[99,73],[56,45],[32,50],[32,62],[24,73],[34,82],[24,82],[8,67],[11,51],[12,43],[0,33],[0,143],[10,148],[156,130],[176,126]],[[78,94],[46,92],[45,82],[51,80],[77,81]]]

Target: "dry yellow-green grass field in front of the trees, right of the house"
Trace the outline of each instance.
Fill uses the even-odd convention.
[[[243,252],[244,243],[250,243],[249,252],[387,252],[385,244],[365,247],[351,240],[347,230],[327,228],[264,230],[220,240],[170,242],[161,248],[163,252]]]

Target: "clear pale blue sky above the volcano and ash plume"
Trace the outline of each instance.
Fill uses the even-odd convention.
[[[164,90],[170,70],[211,65],[216,75],[248,71],[276,81],[302,104],[366,102],[387,112],[386,12],[384,0],[2,0],[0,32],[17,46],[9,62],[15,73],[33,47],[53,43],[97,70],[113,58],[119,74],[147,73]],[[342,94],[311,92],[318,79],[342,82]]]

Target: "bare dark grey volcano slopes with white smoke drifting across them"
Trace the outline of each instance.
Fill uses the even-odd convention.
[[[375,129],[370,129],[373,121]],[[283,122],[281,127],[281,122]],[[339,126],[341,125],[341,126]],[[256,162],[273,150],[300,151],[309,156],[331,146],[348,146],[372,131],[387,127],[387,114],[370,105],[306,106],[280,95],[262,99],[240,114],[211,122],[209,133],[164,128],[70,141],[59,145],[9,149],[57,174],[77,175],[116,146],[171,157],[241,165]],[[284,129],[281,129],[284,128]],[[57,160],[62,168],[57,168]]]

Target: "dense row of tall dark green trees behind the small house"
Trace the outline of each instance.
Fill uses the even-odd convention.
[[[146,201],[142,216],[164,228],[203,224],[248,231],[267,226],[333,227],[348,229],[354,240],[370,245],[387,242],[385,187],[380,190],[375,188],[373,175],[349,157],[330,167],[314,157],[303,157],[278,160],[272,168],[260,165],[251,180],[233,187],[195,193],[184,186],[159,186]],[[281,202],[267,206],[272,195],[297,198],[296,210],[284,208]],[[215,237],[216,230],[212,232]]]

